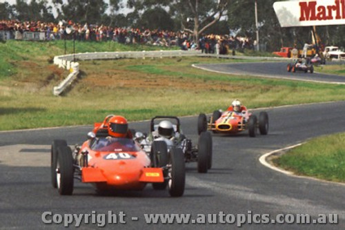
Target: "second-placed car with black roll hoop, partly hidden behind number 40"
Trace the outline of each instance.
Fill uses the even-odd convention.
[[[184,135],[181,130],[181,124],[178,117],[157,116],[150,122],[150,132],[147,134],[137,132],[136,140],[146,153],[155,157],[152,151],[159,152],[157,155],[161,164],[166,164],[166,155],[172,150],[184,155],[185,162],[197,162],[197,171],[207,173],[212,167],[212,136],[210,132],[199,133],[199,142],[193,146],[192,141]],[[151,159],[156,161],[155,159]],[[155,186],[155,184],[152,184]]]

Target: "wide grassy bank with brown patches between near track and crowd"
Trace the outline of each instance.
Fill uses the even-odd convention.
[[[342,85],[224,75],[190,67],[241,61],[203,57],[81,61],[77,82],[68,93],[55,97],[52,88],[68,71],[50,61],[63,54],[63,41],[8,41],[0,46],[7,50],[0,55],[0,64],[2,59],[12,68],[10,75],[0,72],[2,131],[92,124],[114,113],[131,121],[155,115],[197,115],[225,109],[234,98],[248,108],[345,99]],[[77,52],[146,49],[97,42],[76,46]]]

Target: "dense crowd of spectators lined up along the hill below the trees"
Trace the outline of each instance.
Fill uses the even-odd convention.
[[[253,48],[246,37],[229,35],[201,35],[198,44],[184,31],[148,30],[144,28],[119,28],[104,25],[60,21],[1,20],[0,30],[10,32],[10,39],[23,39],[23,32],[41,32],[45,40],[76,39],[77,41],[117,41],[121,44],[149,44],[153,46],[179,46],[182,50],[201,49],[202,52],[227,54],[229,50]]]

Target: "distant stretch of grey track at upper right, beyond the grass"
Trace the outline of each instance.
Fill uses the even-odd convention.
[[[204,70],[215,71],[217,73],[231,73],[235,75],[255,75],[259,77],[270,77],[279,79],[293,79],[307,82],[323,82],[345,84],[344,76],[326,75],[322,73],[310,72],[304,73],[297,71],[296,73],[288,72],[286,66],[289,62],[267,62],[261,63],[235,63],[235,64],[197,64],[195,67]],[[330,62],[329,64],[339,64],[339,62]]]

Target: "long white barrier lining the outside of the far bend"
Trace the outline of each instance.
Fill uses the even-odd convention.
[[[160,50],[160,51],[137,51],[137,52],[85,52],[77,53],[72,55],[62,55],[54,57],[54,64],[60,68],[66,68],[72,71],[66,79],[55,86],[53,93],[54,95],[60,95],[66,87],[72,83],[79,73],[79,64],[73,62],[77,60],[94,60],[94,59],[120,59],[120,58],[163,58],[163,57],[187,57],[187,56],[200,56],[200,57],[217,57],[226,59],[257,59],[257,60],[290,60],[280,57],[244,57],[244,56],[233,56],[233,55],[214,55],[214,54],[201,54],[200,50]]]

